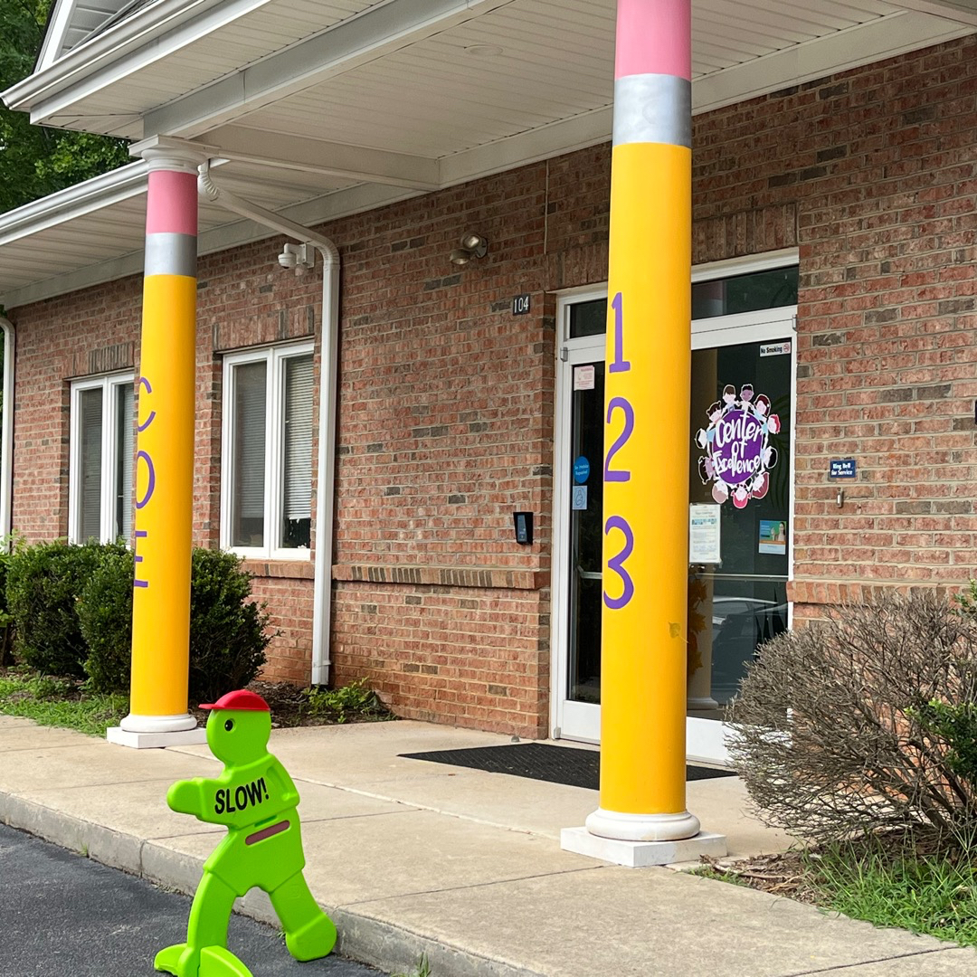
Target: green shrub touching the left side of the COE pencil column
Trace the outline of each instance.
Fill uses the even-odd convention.
[[[78,600],[78,622],[88,645],[85,672],[95,692],[128,692],[132,661],[130,550],[106,549]]]

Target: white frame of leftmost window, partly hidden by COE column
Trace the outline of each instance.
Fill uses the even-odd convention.
[[[83,543],[87,541],[81,538],[81,395],[89,390],[102,390],[102,500],[98,538],[100,542],[114,542],[115,536],[110,530],[115,518],[115,493],[118,488],[115,477],[119,451],[115,438],[118,421],[116,416],[117,391],[119,387],[132,387],[135,382],[136,376],[131,370],[125,373],[105,373],[101,376],[71,381],[67,503],[68,542]],[[135,398],[133,403],[135,403]],[[129,418],[129,420],[135,424],[134,417]],[[125,540],[127,546],[130,542],[129,539]]]

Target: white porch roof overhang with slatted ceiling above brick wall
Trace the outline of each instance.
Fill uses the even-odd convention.
[[[611,137],[615,0],[151,0],[128,17],[62,0],[52,30],[99,4],[117,21],[57,57],[52,41],[8,105],[192,141],[235,192],[307,223]],[[693,10],[697,113],[977,31],[977,0]],[[0,215],[0,302],[137,273],[145,180],[137,163]],[[201,228],[203,251],[264,234],[207,208]]]

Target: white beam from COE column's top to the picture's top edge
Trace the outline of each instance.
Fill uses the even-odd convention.
[[[511,0],[391,0],[147,112],[144,133],[192,139]]]

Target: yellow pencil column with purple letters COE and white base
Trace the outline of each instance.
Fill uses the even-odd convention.
[[[136,421],[132,691],[113,743],[204,742],[188,711],[196,363],[196,177],[202,158],[153,140]]]

